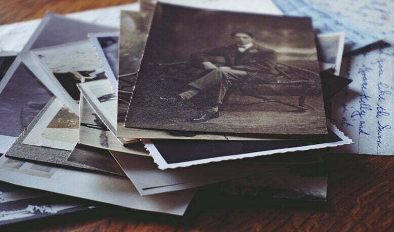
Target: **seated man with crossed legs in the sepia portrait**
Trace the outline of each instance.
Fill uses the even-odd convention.
[[[207,96],[209,104],[206,105],[205,111],[191,119],[192,123],[218,118],[219,107],[223,104],[226,92],[234,84],[264,82],[268,76],[278,74],[274,68],[277,62],[275,51],[255,44],[254,36],[250,32],[235,31],[231,33],[231,37],[235,42],[233,45],[191,54],[193,64],[212,71],[187,84],[189,90],[169,98],[161,98],[184,105],[198,94],[213,92],[213,95]],[[210,57],[223,57],[224,66],[215,65]]]

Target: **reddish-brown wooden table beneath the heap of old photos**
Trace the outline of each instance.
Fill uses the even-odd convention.
[[[127,0],[2,0],[0,24],[130,3]],[[393,231],[394,157],[329,154],[325,204],[303,204],[200,192],[185,216],[120,207],[32,220],[0,231]]]

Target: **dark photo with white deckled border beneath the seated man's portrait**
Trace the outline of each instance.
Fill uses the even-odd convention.
[[[352,143],[336,126],[327,122],[328,134],[309,140],[207,141],[141,139],[159,169],[189,167],[211,162],[238,160],[280,153],[336,147]],[[176,151],[176,152],[175,152]],[[274,156],[273,156],[274,158]]]

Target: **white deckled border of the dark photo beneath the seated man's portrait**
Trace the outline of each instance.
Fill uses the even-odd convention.
[[[313,144],[307,146],[299,146],[299,147],[290,147],[290,148],[282,148],[282,149],[274,149],[274,150],[266,150],[266,151],[257,151],[251,153],[244,153],[244,154],[235,154],[231,156],[224,156],[224,157],[215,157],[209,159],[202,159],[202,160],[194,160],[194,161],[187,161],[187,162],[180,162],[180,163],[173,163],[168,164],[166,160],[162,157],[161,153],[154,144],[150,141],[150,139],[141,139],[143,144],[145,145],[146,150],[149,152],[150,156],[153,157],[154,162],[159,166],[159,169],[168,169],[168,168],[179,168],[179,167],[189,167],[192,165],[199,165],[199,164],[207,164],[211,162],[219,162],[219,161],[226,161],[226,160],[237,160],[237,159],[244,159],[244,158],[251,158],[251,157],[258,157],[258,156],[266,156],[269,154],[275,153],[285,153],[285,152],[292,152],[292,151],[302,151],[302,150],[310,150],[310,149],[320,149],[325,147],[336,147],[341,145],[350,144],[353,141],[346,137],[343,132],[341,132],[335,125],[331,122],[327,122],[327,127],[333,131],[335,135],[337,135],[341,140],[336,142],[327,142],[321,144]]]

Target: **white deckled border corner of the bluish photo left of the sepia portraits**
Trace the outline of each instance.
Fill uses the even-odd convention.
[[[90,42],[92,43],[93,48],[96,50],[96,55],[98,56],[101,64],[104,67],[105,74],[108,77],[109,82],[112,85],[112,89],[117,91],[117,76],[113,73],[111,65],[109,64],[107,58],[105,57],[103,48],[100,45],[99,38],[100,37],[118,37],[119,32],[101,32],[101,33],[90,33],[89,35]],[[118,42],[119,44],[119,42]]]

